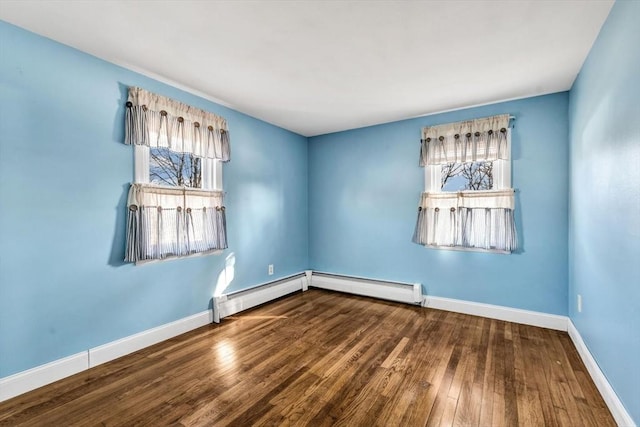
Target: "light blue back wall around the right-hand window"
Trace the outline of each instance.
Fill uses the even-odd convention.
[[[568,94],[470,108],[310,138],[310,267],[420,282],[429,295],[567,313]],[[411,243],[423,126],[511,113],[522,251],[426,249]]]

